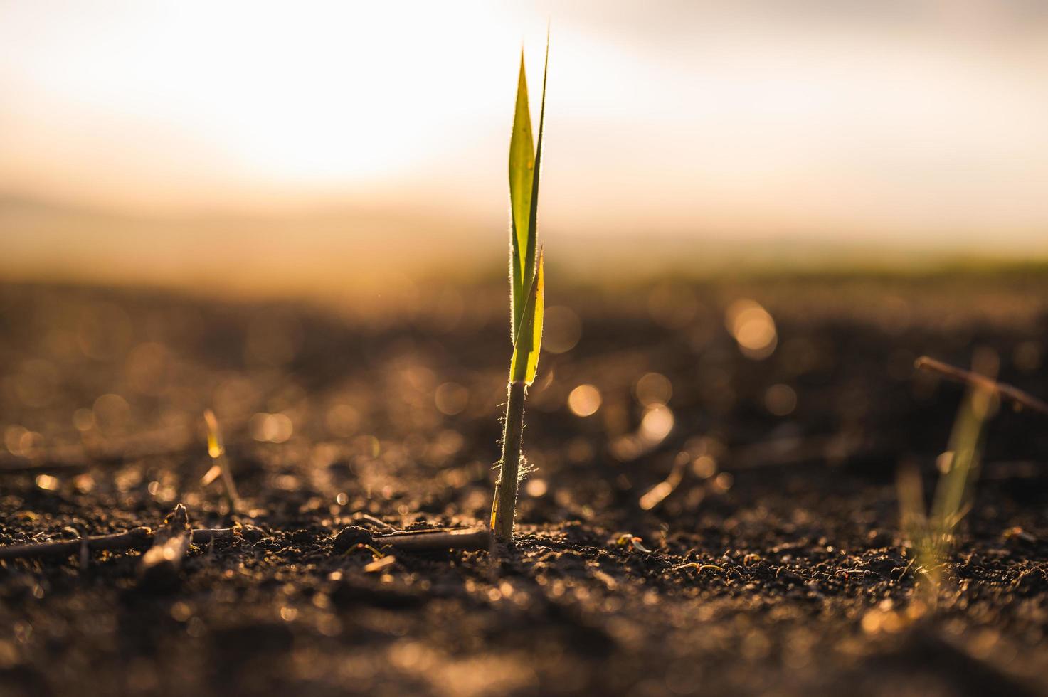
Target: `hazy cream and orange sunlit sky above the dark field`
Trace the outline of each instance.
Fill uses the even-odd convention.
[[[547,24],[553,239],[1048,254],[1038,0],[0,0],[0,233],[40,263],[205,218],[303,263],[501,236]]]

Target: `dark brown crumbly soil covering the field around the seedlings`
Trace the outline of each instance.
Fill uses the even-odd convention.
[[[992,422],[939,606],[916,619],[894,484],[910,461],[934,486],[962,395],[916,356],[989,347],[1046,396],[1048,275],[550,286],[571,311],[547,345],[572,344],[572,317],[581,339],[529,396],[517,547],[373,571],[332,544],[372,525],[357,514],[487,515],[501,282],[334,309],[0,286],[0,545],[155,527],[178,502],[195,527],[258,528],[192,549],[169,586],[138,581],[136,551],[0,563],[0,694],[1048,693],[1048,422]],[[766,358],[725,330],[739,298],[774,318]],[[645,419],[650,372],[672,397]],[[589,417],[567,405],[582,384],[603,396]],[[645,385],[649,402],[664,388]],[[795,392],[788,414],[773,385]],[[200,484],[206,408],[234,518]]]

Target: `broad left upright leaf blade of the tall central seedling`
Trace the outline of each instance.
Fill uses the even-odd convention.
[[[532,211],[531,188],[536,177],[534,143],[531,139],[531,113],[527,99],[527,77],[524,73],[524,51],[521,50],[521,70],[517,81],[517,109],[514,112],[514,132],[509,139],[509,285],[510,285],[510,337],[516,337],[526,304],[527,288],[531,282],[531,266],[527,265],[528,249],[534,259],[534,238],[530,216]]]

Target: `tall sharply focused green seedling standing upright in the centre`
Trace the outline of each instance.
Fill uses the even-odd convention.
[[[531,114],[524,73],[524,52],[517,83],[517,108],[509,140],[509,337],[514,352],[509,363],[506,417],[502,433],[502,459],[492,504],[492,530],[505,542],[512,540],[517,485],[521,467],[524,398],[534,382],[542,348],[544,306],[543,254],[536,232],[539,211],[539,172],[542,164],[542,131],[546,113],[546,69],[549,40],[542,74],[542,106],[539,110],[538,147],[531,139]]]

